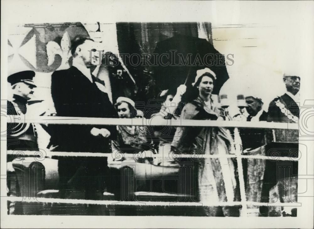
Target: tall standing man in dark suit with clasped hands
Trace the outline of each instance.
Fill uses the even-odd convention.
[[[117,113],[103,82],[91,74],[99,63],[97,43],[77,38],[71,47],[72,67],[51,76],[51,95],[57,116],[116,118]],[[111,152],[115,126],[54,125],[50,130],[50,149],[67,152]],[[95,199],[102,195],[106,158],[59,158],[61,194],[65,197]],[[78,192],[75,192],[78,191]],[[82,197],[83,194],[83,197]]]

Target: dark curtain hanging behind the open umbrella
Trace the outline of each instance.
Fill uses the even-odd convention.
[[[175,34],[198,37],[197,23],[116,23],[119,53],[153,54],[159,41],[173,37]],[[210,24],[209,24],[210,28]],[[211,32],[211,31],[210,31]],[[160,92],[154,79],[153,67],[133,67],[128,59],[127,68],[136,80],[138,91],[134,95],[137,101],[155,98]]]

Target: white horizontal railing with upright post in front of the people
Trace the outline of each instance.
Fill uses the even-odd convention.
[[[21,118],[24,117],[24,118]],[[263,128],[263,129],[299,129],[298,123],[273,123],[273,122],[239,122],[239,121],[218,121],[218,120],[167,120],[167,119],[145,119],[145,118],[93,118],[93,117],[60,117],[60,116],[8,116],[7,122],[11,123],[40,123],[40,124],[81,124],[81,125],[127,125],[127,126],[193,126],[193,127],[229,127],[229,128]],[[15,155],[17,157],[23,156],[43,156],[40,151],[21,151],[21,150],[8,150],[7,154]],[[46,152],[46,151],[45,151]],[[119,153],[120,155],[122,153]],[[170,153],[171,154],[171,153]],[[144,153],[138,153],[136,158],[144,157],[162,157],[173,160],[173,155],[164,154],[151,154],[145,155]],[[86,156],[86,157],[113,157],[111,153],[91,153],[91,152],[46,152],[46,156]],[[134,158],[133,154],[123,154],[125,158]],[[69,203],[69,204],[103,204],[103,205],[129,205],[129,206],[235,206],[241,205],[241,215],[247,216],[248,205],[255,206],[293,206],[298,203],[260,203],[246,201],[244,177],[242,169],[242,158],[247,159],[264,159],[264,160],[280,160],[280,161],[297,161],[300,158],[290,157],[272,157],[263,155],[198,155],[198,154],[181,154],[178,158],[236,158],[239,169],[239,181],[240,181],[240,196],[241,201],[227,201],[227,202],[208,202],[208,203],[196,203],[196,202],[154,202],[154,201],[119,201],[114,202],[112,200],[85,200],[85,199],[53,199],[53,198],[36,198],[34,199],[21,199],[21,197],[8,197],[7,200],[12,202],[45,202],[45,203]]]

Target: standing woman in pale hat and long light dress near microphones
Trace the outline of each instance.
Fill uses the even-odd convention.
[[[195,120],[217,120],[219,110],[212,99],[216,75],[209,68],[197,71],[192,85],[198,89],[198,98],[187,103],[182,110],[181,118]],[[178,127],[172,142],[173,152],[197,154],[230,154],[232,138],[225,128],[220,127]],[[200,155],[201,156],[201,155]],[[203,205],[211,202],[234,201],[236,180],[234,166],[227,158],[201,159],[193,162],[197,176],[198,199]],[[197,172],[196,172],[197,171]],[[194,190],[193,193],[195,194]],[[203,207],[201,215],[230,215],[226,207]]]

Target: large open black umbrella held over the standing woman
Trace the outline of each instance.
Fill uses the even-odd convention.
[[[173,90],[185,84],[188,93],[191,91],[189,88],[195,80],[196,71],[203,68],[210,68],[216,74],[213,94],[218,94],[222,85],[229,79],[224,55],[205,39],[175,35],[158,42],[154,53],[158,57],[158,66],[153,68],[154,79],[160,90]]]

